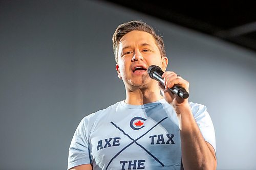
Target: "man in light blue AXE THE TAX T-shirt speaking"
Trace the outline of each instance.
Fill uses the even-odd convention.
[[[168,90],[179,84],[188,91],[189,83],[173,71],[162,75],[164,86],[147,74],[151,65],[167,67],[162,38],[131,21],[116,29],[113,49],[126,99],[81,120],[68,169],[216,169],[206,107]]]

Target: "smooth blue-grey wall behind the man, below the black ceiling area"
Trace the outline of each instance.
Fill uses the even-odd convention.
[[[0,2],[0,169],[66,169],[81,118],[125,99],[112,35],[134,19],[163,36],[168,69],[207,106],[218,169],[256,169],[256,53],[94,1]]]

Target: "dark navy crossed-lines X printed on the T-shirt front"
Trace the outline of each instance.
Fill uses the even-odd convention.
[[[130,145],[132,145],[133,143],[136,143],[140,148],[142,148],[148,155],[152,156],[158,163],[160,163],[162,166],[164,166],[164,164],[159,161],[154,155],[152,155],[149,151],[147,151],[142,145],[140,145],[137,140],[139,140],[140,138],[142,138],[143,136],[145,136],[148,132],[150,132],[152,129],[154,129],[158,124],[160,124],[161,122],[163,122],[164,119],[166,119],[167,117],[163,118],[162,120],[160,120],[160,122],[158,122],[155,126],[153,126],[150,130],[146,131],[146,133],[144,133],[143,135],[141,135],[140,137],[138,137],[137,139],[133,139],[130,135],[126,134],[121,128],[119,128],[116,124],[114,124],[113,122],[111,122],[112,125],[114,125],[117,129],[119,129],[125,136],[129,137],[132,142],[128,145],[126,145],[126,147],[124,147],[122,150],[120,150],[109,162],[108,166],[106,166],[106,170],[108,169],[110,163],[121,153],[123,152],[126,148],[130,147]]]

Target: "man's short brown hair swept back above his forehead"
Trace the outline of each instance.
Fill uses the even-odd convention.
[[[151,26],[147,25],[145,22],[133,20],[133,21],[122,23],[121,25],[119,25],[112,37],[113,51],[114,51],[116,63],[118,63],[119,42],[125,34],[131,31],[144,31],[144,32],[150,33],[156,40],[156,44],[161,53],[161,57],[166,57],[162,37],[157,35],[155,33],[155,30]]]

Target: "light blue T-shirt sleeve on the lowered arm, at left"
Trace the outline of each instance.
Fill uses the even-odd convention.
[[[79,123],[69,148],[68,169],[90,164],[89,142],[86,136],[87,119],[84,117]]]

